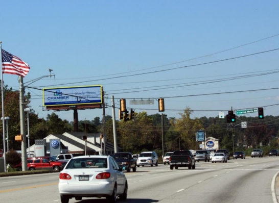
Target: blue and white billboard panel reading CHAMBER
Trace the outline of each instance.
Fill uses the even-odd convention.
[[[102,104],[102,86],[43,88],[43,106]]]

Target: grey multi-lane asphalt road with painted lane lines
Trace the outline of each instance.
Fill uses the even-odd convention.
[[[134,203],[223,203],[277,202],[275,179],[279,157],[246,158],[227,163],[197,162],[195,170],[169,165],[138,167],[125,172],[128,180],[128,199]],[[59,173],[1,177],[0,201],[9,203],[56,203]],[[279,190],[278,190],[279,191]],[[277,192],[279,194],[279,192]],[[70,203],[108,203],[106,199],[70,199]]]

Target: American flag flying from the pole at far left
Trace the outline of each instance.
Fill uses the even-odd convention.
[[[30,70],[30,66],[18,57],[2,49],[2,71],[7,74],[16,74],[25,77]]]

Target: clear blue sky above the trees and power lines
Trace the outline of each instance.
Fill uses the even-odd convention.
[[[31,67],[24,82],[55,73],[30,87],[102,85],[108,106],[112,96],[118,108],[126,98],[127,108],[149,115],[161,113],[160,97],[168,117],[187,107],[193,117],[258,107],[279,114],[277,0],[10,0],[0,7],[2,48]],[[17,75],[3,79],[19,88]],[[259,89],[266,90],[252,91]],[[53,112],[42,110],[41,90],[26,92],[39,117]],[[148,98],[154,105],[129,104]],[[55,113],[73,121],[73,111]],[[102,118],[101,109],[78,113]]]

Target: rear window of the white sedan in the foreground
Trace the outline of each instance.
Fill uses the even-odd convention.
[[[107,168],[107,159],[99,157],[71,159],[67,164],[66,169],[74,168]]]

